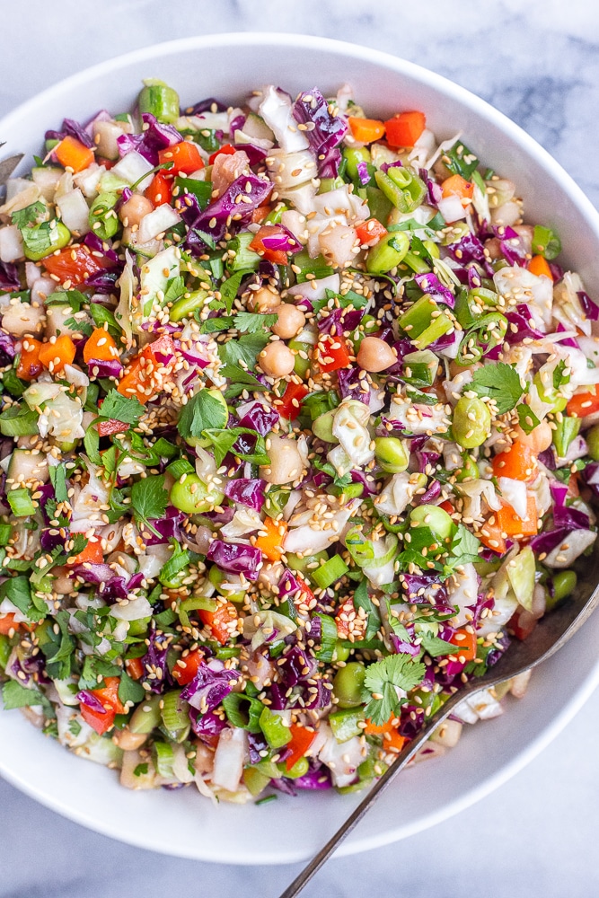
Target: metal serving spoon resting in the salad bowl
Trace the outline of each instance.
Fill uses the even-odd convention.
[[[592,564],[588,565],[586,583],[581,585],[575,598],[563,603],[555,611],[543,618],[538,626],[533,629],[533,633],[527,639],[524,639],[523,642],[515,641],[512,643],[507,652],[499,658],[498,663],[490,667],[484,676],[472,678],[464,683],[458,691],[454,692],[445,701],[443,707],[427,721],[427,726],[398,754],[395,761],[383,773],[381,779],[374,783],[374,786],[366,794],[366,797],[360,802],[356,810],[349,814],[346,822],[339,827],[339,830],[313,857],[308,866],[304,867],[300,875],[295,877],[293,883],[286,888],[285,892],[280,894],[279,898],[295,898],[295,895],[300,894],[304,890],[304,886],[310,882],[314,874],[330,858],[330,855],[337,849],[339,843],[354,829],[369,808],[374,805],[377,798],[383,794],[383,791],[395,779],[400,770],[403,770],[410,758],[426,743],[427,738],[436,726],[439,726],[445,718],[449,717],[452,710],[462,699],[481,689],[489,689],[489,686],[496,686],[500,682],[505,682],[511,677],[517,676],[517,674],[524,674],[524,671],[540,665],[542,661],[546,661],[547,658],[564,646],[568,639],[574,636],[592,612],[595,611],[597,604],[599,604],[599,586],[596,585],[594,567]]]

